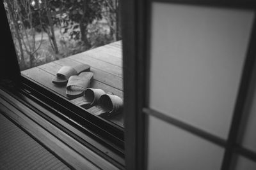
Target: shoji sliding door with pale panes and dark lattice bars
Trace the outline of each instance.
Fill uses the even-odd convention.
[[[150,1],[147,169],[256,169],[255,11],[231,6]]]

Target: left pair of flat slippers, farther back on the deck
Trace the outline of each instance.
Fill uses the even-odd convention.
[[[83,96],[83,92],[87,87],[90,87],[90,81],[93,73],[90,72],[90,66],[80,64],[76,67],[63,66],[60,68],[52,83],[56,85],[66,85],[67,97],[74,98]]]

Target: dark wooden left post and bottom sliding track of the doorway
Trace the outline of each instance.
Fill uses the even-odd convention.
[[[1,44],[3,44],[1,50],[4,50],[4,56],[1,57],[0,63],[0,89],[36,111],[38,115],[52,122],[52,124],[67,132],[68,135],[77,139],[80,143],[91,148],[94,152],[99,153],[100,156],[115,162],[119,167],[124,167],[124,129],[122,127],[108,120],[104,120],[104,118],[92,115],[83,108],[79,108],[70,103],[65,97],[58,95],[51,89],[26,78],[26,76],[22,76],[3,1],[1,1],[0,10],[0,17],[3,23],[1,27],[2,34],[5,35],[4,39],[2,38],[0,40]],[[41,106],[49,112],[43,113],[40,111],[42,110]],[[58,118],[67,122],[68,125],[72,125],[72,127],[75,127],[79,132],[88,136],[88,138],[92,138],[97,145],[81,139],[79,133],[74,134],[74,132],[62,128],[47,115],[50,112],[54,115],[58,115]],[[81,122],[80,119],[83,119],[83,122]],[[81,122],[83,125],[77,124],[77,122],[73,120],[77,120],[77,122]],[[86,145],[86,143],[88,145]],[[111,153],[102,153],[100,147],[110,150]]]

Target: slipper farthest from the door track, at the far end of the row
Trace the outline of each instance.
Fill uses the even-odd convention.
[[[77,75],[83,71],[90,71],[90,66],[88,64],[79,64],[76,67],[62,66],[57,72],[56,77],[52,79],[52,83],[65,85],[70,76]]]

